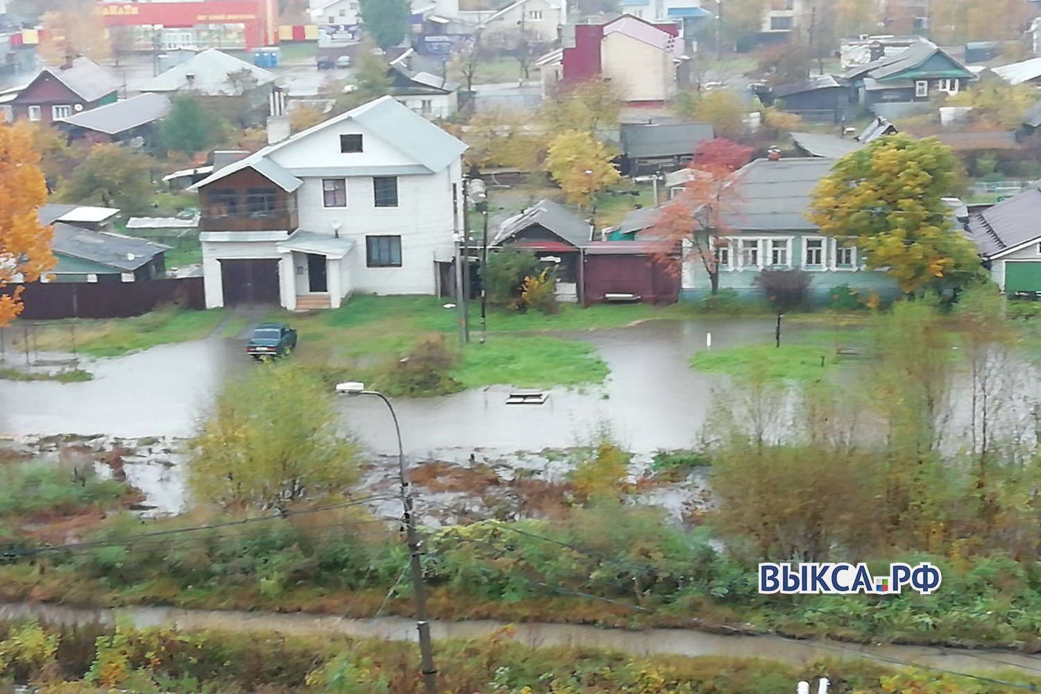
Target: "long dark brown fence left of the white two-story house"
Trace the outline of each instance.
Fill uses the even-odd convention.
[[[8,285],[3,292],[24,286],[27,320],[57,318],[126,318],[148,313],[163,304],[206,308],[201,277],[147,282],[31,282]]]

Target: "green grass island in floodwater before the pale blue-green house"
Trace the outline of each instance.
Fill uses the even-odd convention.
[[[812,381],[827,377],[836,363],[833,351],[806,344],[706,350],[690,359],[691,366],[707,374],[769,381]]]

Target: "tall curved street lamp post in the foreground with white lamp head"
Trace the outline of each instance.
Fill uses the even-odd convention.
[[[437,694],[437,670],[434,669],[434,648],[430,640],[430,618],[427,615],[427,587],[423,583],[423,554],[420,534],[415,530],[415,514],[412,506],[412,490],[405,466],[405,447],[401,442],[401,427],[398,413],[386,395],[378,390],[365,390],[365,384],[349,381],[336,385],[336,392],[342,395],[375,395],[390,410],[393,431],[398,437],[398,482],[401,485],[401,503],[404,509],[405,536],[408,542],[409,564],[412,571],[412,600],[415,605],[415,628],[420,633],[420,658],[423,667],[423,684],[426,694]]]

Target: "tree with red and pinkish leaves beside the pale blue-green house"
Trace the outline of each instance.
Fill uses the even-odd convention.
[[[683,262],[701,263],[712,294],[719,291],[720,250],[732,228],[727,220],[739,200],[734,173],[752,160],[752,148],[717,137],[694,150],[689,180],[683,190],[662,206],[651,235],[663,247],[683,249]]]

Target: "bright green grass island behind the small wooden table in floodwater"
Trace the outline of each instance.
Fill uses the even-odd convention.
[[[603,383],[608,369],[595,349],[579,340],[556,337],[502,337],[471,343],[452,378],[465,388],[506,384],[550,388]]]

